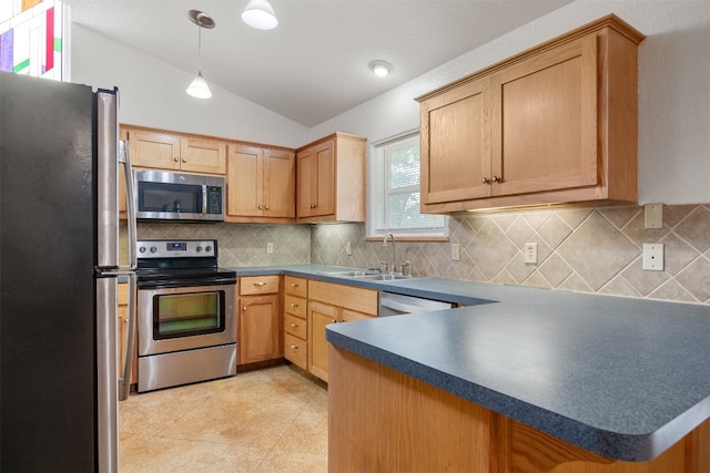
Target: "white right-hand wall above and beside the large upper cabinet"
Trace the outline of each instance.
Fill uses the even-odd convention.
[[[647,35],[639,49],[639,202],[709,203],[708,1],[577,1],[310,130],[308,138],[338,130],[373,143],[416,128],[414,97],[608,13]]]

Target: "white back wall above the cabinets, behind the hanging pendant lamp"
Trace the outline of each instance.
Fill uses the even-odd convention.
[[[297,147],[306,128],[211,85],[212,99],[185,93],[194,79],[156,58],[81,24],[71,29],[71,81],[119,88],[121,122],[164,130]]]

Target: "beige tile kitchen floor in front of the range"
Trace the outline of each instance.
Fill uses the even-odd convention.
[[[131,394],[120,471],[327,472],[327,391],[281,366]]]

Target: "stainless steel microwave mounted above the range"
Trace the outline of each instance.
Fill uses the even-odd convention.
[[[224,220],[226,187],[221,176],[135,169],[133,192],[136,218]]]

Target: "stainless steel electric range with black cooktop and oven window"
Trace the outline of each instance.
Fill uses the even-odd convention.
[[[217,240],[138,241],[138,391],[236,373],[236,273]]]

